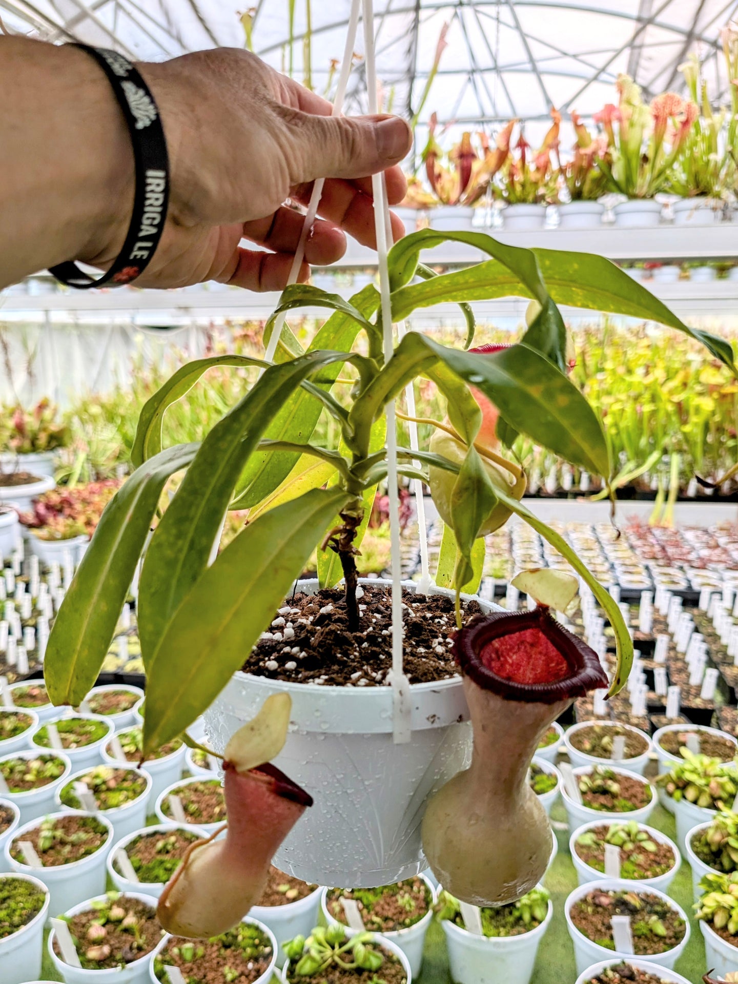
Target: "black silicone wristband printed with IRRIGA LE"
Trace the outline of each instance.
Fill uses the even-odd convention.
[[[131,62],[107,48],[75,47],[98,63],[123,110],[133,144],[136,192],[123,248],[106,273],[93,279],[71,260],[49,268],[49,273],[80,290],[103,284],[117,287],[144,273],[161,239],[169,201],[169,157],[154,96]]]

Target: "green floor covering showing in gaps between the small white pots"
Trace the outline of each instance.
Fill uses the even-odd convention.
[[[559,802],[554,807],[554,821],[565,821],[566,814]],[[649,821],[651,827],[663,832],[674,839],[676,835],[674,818],[662,807],[657,806]],[[557,830],[559,852],[553,865],[546,874],[544,884],[553,900],[554,915],[548,933],[543,938],[538,951],[538,959],[531,984],[575,984],[577,970],[574,964],[574,948],[567,932],[564,919],[564,901],[572,889],[577,886],[577,875],[569,856],[569,834],[566,830]],[[692,874],[686,862],[682,863],[679,874],[669,890],[671,897],[688,913],[692,913]],[[701,984],[706,972],[705,947],[703,937],[696,920],[692,919],[692,938],[677,962],[675,970],[682,974],[692,984]],[[51,960],[44,949],[44,962],[41,978],[46,980],[62,980],[55,972]],[[0,982],[1,984],[1,982]],[[428,932],[425,943],[425,958],[423,972],[418,984],[452,984],[449,975],[449,964],[446,958],[446,943],[443,930],[438,924],[433,924]],[[513,984],[513,982],[511,982]],[[517,982],[515,982],[517,984]]]

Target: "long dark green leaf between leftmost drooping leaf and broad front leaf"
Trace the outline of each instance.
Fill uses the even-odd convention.
[[[271,366],[203,442],[144,562],[139,631],[147,671],[169,619],[206,569],[238,477],[279,408],[309,375],[345,359],[345,352],[316,351]]]

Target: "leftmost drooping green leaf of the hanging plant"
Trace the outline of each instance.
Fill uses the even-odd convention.
[[[198,447],[177,445],[146,461],[105,506],[49,636],[43,672],[54,704],[76,707],[94,686],[161,490]]]

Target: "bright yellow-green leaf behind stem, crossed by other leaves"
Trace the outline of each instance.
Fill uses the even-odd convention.
[[[369,318],[379,306],[379,294],[369,284],[351,298],[351,303],[363,317]],[[355,318],[337,312],[316,334],[308,351],[348,351],[359,331]],[[339,365],[329,366],[323,370],[321,376],[336,380],[339,371]],[[328,390],[330,386],[321,384],[321,389]],[[285,401],[265,436],[275,441],[309,441],[321,412],[321,404],[301,388]],[[298,456],[287,452],[278,455],[262,455],[257,452],[252,455],[239,479],[238,497],[234,507],[249,509],[260,503],[286,478],[297,458]]]

